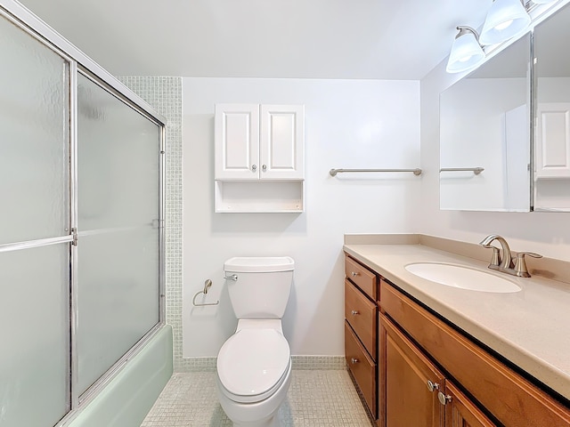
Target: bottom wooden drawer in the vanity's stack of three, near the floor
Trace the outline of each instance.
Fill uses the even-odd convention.
[[[358,384],[362,396],[376,419],[376,365],[370,358],[352,328],[345,322],[345,356],[350,372]]]

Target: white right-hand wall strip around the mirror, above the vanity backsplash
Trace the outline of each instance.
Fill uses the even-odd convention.
[[[442,62],[420,82],[422,180],[419,231],[478,243],[487,234],[498,233],[514,251],[533,251],[570,260],[570,214],[483,213],[439,210],[439,94],[456,76],[445,73]]]

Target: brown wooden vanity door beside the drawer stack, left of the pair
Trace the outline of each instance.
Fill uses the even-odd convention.
[[[379,395],[386,403],[381,409],[384,420],[379,425],[444,426],[444,406],[437,398],[437,392],[444,390],[444,375],[384,315],[380,315],[380,334],[386,359],[380,361],[384,390]],[[428,382],[433,384],[431,391]]]

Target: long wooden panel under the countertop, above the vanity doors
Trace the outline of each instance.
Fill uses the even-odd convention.
[[[507,427],[570,426],[570,409],[455,331],[443,320],[380,282],[381,308]]]

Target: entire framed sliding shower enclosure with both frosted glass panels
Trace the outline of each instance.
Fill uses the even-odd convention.
[[[74,415],[164,325],[164,125],[0,0],[0,426]]]

